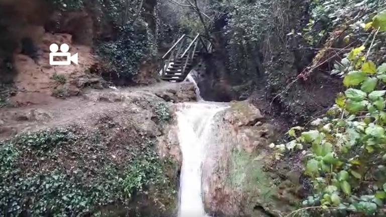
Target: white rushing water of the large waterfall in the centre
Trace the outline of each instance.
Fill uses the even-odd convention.
[[[211,141],[214,117],[227,107],[216,102],[179,104],[178,139],[182,151],[178,217],[204,217],[202,163]]]

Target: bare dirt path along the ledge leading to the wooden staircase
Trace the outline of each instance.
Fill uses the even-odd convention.
[[[147,100],[164,101],[156,93],[167,90],[183,92],[183,89],[189,91],[192,88],[194,86],[191,83],[161,82],[149,86],[120,88],[117,90],[112,88],[103,90],[86,89],[82,95],[68,99],[48,98],[47,94],[38,92],[36,96],[44,99],[44,103],[0,109],[0,139],[21,132],[64,126],[71,123],[92,126],[95,116],[103,114],[122,115],[122,112],[127,115],[139,113],[139,108],[136,109],[134,105],[141,106],[142,103],[145,103],[145,98]],[[194,99],[195,97],[194,92],[192,92],[190,97],[184,97],[184,99]],[[130,103],[133,103],[133,105],[130,105]],[[139,117],[137,122],[141,123],[142,118],[146,117]],[[151,118],[151,116],[148,118]],[[146,126],[144,126],[144,129],[146,129]]]

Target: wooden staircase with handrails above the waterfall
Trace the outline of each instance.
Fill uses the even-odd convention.
[[[210,42],[207,46],[205,41],[200,34],[194,39],[182,35],[162,57],[161,79],[171,82],[183,81],[197,64],[198,57],[209,52]]]

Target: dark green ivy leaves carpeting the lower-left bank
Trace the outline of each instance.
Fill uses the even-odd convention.
[[[167,163],[147,140],[141,150],[134,150],[136,158],[127,165],[101,159],[103,166],[93,167],[89,173],[81,165],[61,164],[63,158],[81,162],[79,156],[74,157],[75,153],[66,153],[69,146],[87,143],[83,136],[54,129],[0,142],[2,213],[15,217],[26,211],[31,216],[78,216],[113,202],[128,204],[128,199],[149,185],[154,186],[158,198],[175,196],[169,178],[164,175]],[[98,153],[98,147],[101,144],[92,148],[94,153]],[[95,161],[89,157],[88,161]]]

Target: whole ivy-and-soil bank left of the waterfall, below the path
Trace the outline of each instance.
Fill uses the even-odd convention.
[[[175,214],[180,156],[160,97],[93,91],[11,111],[0,115],[2,216]]]

